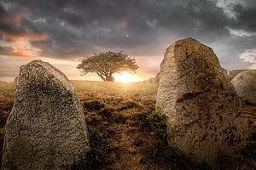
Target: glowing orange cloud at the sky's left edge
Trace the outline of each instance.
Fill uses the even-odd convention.
[[[0,5],[0,51],[2,56],[10,56],[14,59],[29,59],[40,55],[40,48],[32,46],[31,42],[40,42],[48,38],[44,32],[32,30],[22,25],[21,14],[9,14]]]

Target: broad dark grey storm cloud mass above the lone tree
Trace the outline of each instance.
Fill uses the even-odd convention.
[[[34,45],[53,56],[91,54],[101,48],[129,50],[154,41],[162,36],[163,29],[175,36],[206,40],[229,33],[225,29],[226,15],[209,1],[17,0],[5,3],[9,4],[9,11],[22,14],[26,26],[47,33],[49,40]]]

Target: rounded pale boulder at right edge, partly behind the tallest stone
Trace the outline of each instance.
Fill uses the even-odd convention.
[[[248,103],[256,105],[256,70],[242,71],[231,81],[236,94]]]

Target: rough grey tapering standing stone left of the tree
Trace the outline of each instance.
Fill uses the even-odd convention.
[[[15,104],[5,126],[3,169],[71,169],[86,159],[88,132],[67,77],[34,60],[20,67]]]

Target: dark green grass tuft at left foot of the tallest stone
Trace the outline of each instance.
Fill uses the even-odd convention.
[[[167,142],[167,117],[160,113],[160,110],[155,109],[147,116],[140,115],[135,117],[143,121],[143,127],[151,129],[154,132],[155,142],[153,147],[147,150],[147,157],[141,160],[142,163],[154,161],[155,163],[170,163],[172,169],[189,169],[191,161],[186,158],[179,150],[172,148]]]

